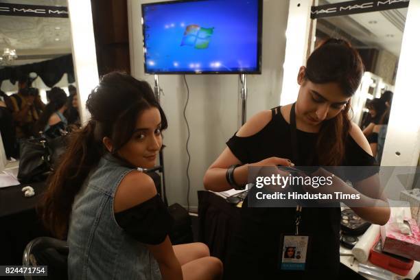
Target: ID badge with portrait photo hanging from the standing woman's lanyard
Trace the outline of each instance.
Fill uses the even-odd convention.
[[[305,270],[310,244],[308,235],[283,235],[280,246],[281,270]]]

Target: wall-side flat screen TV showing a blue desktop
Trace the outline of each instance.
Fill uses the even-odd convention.
[[[141,5],[145,73],[261,73],[262,0]]]

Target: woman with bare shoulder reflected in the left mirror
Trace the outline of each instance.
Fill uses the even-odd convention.
[[[49,103],[40,115],[35,126],[35,135],[41,133],[48,138],[65,135],[67,119],[63,115],[67,109],[67,95],[65,91],[54,86],[48,93]]]

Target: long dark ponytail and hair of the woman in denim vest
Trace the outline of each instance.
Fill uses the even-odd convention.
[[[139,114],[153,107],[161,113],[161,128],[167,128],[165,113],[147,82],[118,72],[101,78],[86,102],[91,120],[71,132],[67,152],[49,178],[39,209],[47,229],[59,238],[67,236],[74,197],[105,152],[102,139],[109,137],[112,152],[117,152],[131,139]]]

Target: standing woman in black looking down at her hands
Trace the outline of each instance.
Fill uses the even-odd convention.
[[[349,43],[325,40],[299,70],[296,103],[264,110],[249,119],[207,170],[205,187],[225,191],[243,186],[248,167],[375,165],[369,143],[349,119],[350,97],[362,73],[362,60]],[[352,183],[357,187],[371,175],[364,174]],[[390,213],[388,207],[353,210],[375,224],[385,224]],[[251,208],[246,199],[239,228],[229,244],[226,279],[336,279],[340,208],[302,209],[299,232],[312,237],[305,270],[281,270],[280,237],[294,233],[295,222],[296,207]]]

